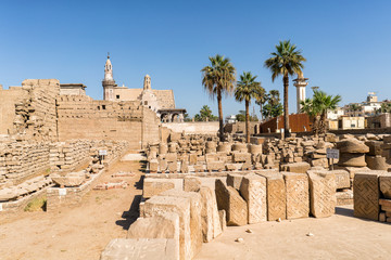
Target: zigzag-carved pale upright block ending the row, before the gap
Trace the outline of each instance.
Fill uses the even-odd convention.
[[[330,217],[336,211],[336,176],[308,173],[311,213],[315,218]]]

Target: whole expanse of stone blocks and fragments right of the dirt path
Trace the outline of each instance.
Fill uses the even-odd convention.
[[[371,213],[388,221],[390,141],[389,135],[327,134],[245,144],[182,134],[167,144],[151,144],[140,218],[127,238],[108,245],[101,259],[192,259],[202,243],[213,240],[226,225],[330,217],[337,205],[353,204],[353,187],[355,214],[367,218],[356,208],[356,197],[365,197],[364,209],[369,203],[369,191],[356,194],[368,190],[365,183],[357,187],[362,174],[379,180],[379,190],[369,196],[377,209]],[[333,170],[327,148],[340,152]],[[129,247],[155,250],[152,256]]]

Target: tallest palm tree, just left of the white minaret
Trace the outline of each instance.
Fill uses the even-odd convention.
[[[288,87],[289,76],[293,74],[301,75],[304,68],[303,62],[305,57],[301,54],[301,50],[297,50],[295,44],[290,41],[280,41],[276,46],[276,52],[270,53],[272,57],[265,61],[265,67],[272,72],[272,81],[282,75],[283,82],[283,129],[285,136],[290,136],[289,132],[289,112],[288,112]]]

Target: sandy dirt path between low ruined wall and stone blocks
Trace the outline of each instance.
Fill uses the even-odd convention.
[[[125,180],[129,186],[91,191],[78,207],[0,219],[0,259],[99,259],[105,245],[112,238],[125,237],[138,217],[140,169],[138,161],[111,166],[100,182]],[[111,178],[117,171],[133,171],[136,176]]]

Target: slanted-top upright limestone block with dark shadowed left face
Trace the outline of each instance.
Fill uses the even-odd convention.
[[[216,180],[215,193],[217,207],[227,214],[227,225],[245,225],[248,222],[248,207],[238,191],[227,186],[222,180]]]

